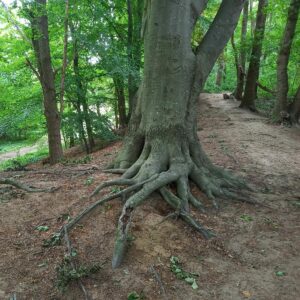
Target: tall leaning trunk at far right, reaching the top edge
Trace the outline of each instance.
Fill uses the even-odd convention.
[[[291,0],[287,22],[283,33],[277,58],[277,97],[274,110],[275,121],[281,121],[281,114],[288,111],[288,64],[295,35],[296,24],[300,9],[300,0]]]

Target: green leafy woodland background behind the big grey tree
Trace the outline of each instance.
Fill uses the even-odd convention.
[[[132,2],[132,3],[131,3]],[[1,6],[1,141],[37,140],[46,124],[61,129],[65,148],[110,140],[126,128],[143,73],[143,1],[49,1],[49,68],[55,101],[43,96],[39,51],[34,45],[39,5],[11,1]],[[220,1],[209,1],[193,32],[201,41]],[[204,90],[227,91],[242,106],[282,121],[299,120],[298,2],[248,1],[239,23],[215,64]],[[48,45],[45,45],[47,48]],[[250,70],[250,71],[249,71]],[[244,93],[245,92],[245,93]],[[298,92],[298,93],[297,93]],[[46,107],[51,113],[47,115]],[[283,113],[285,112],[285,114]],[[280,115],[281,113],[281,115]],[[52,128],[52,126],[49,126]],[[53,129],[55,130],[55,129]],[[58,129],[57,129],[58,130]],[[57,141],[55,141],[57,143]],[[59,147],[59,146],[57,146]],[[57,149],[61,159],[62,150]]]

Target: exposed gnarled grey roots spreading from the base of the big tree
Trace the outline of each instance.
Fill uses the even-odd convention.
[[[128,157],[133,156],[130,153]],[[251,190],[243,179],[214,166],[198,142],[189,143],[184,138],[169,142],[167,140],[164,142],[160,140],[153,140],[151,143],[145,142],[143,150],[135,162],[126,161],[125,151],[122,153],[122,160],[115,167],[121,168],[117,169],[116,173],[121,173],[122,176],[103,182],[90,197],[97,195],[103,188],[109,186],[126,187],[93,203],[66,224],[58,234],[61,238],[66,230],[70,230],[95,207],[115,198],[126,200],[118,221],[112,259],[113,268],[117,268],[124,258],[134,210],[155,191],[160,192],[163,199],[175,210],[176,215],[195,228],[206,239],[214,237],[215,234],[197,222],[189,213],[190,205],[201,212],[205,212],[203,203],[192,194],[189,180],[192,180],[207,195],[216,208],[219,207],[217,199],[220,198],[256,203],[249,196],[242,194],[242,189]],[[114,173],[114,170],[108,171]],[[175,193],[168,188],[170,184],[175,184]]]

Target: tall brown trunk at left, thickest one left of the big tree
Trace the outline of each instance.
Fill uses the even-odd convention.
[[[33,12],[33,45],[38,61],[40,81],[44,96],[45,117],[48,131],[50,163],[57,163],[63,156],[60,134],[60,115],[57,110],[54,72],[49,47],[46,0],[36,0],[37,16]]]

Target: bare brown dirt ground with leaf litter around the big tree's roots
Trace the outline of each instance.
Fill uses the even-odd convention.
[[[192,210],[217,234],[206,241],[181,220],[168,218],[158,225],[171,209],[154,194],[137,209],[133,241],[116,270],[111,257],[121,203],[99,207],[70,233],[77,265],[104,264],[82,280],[91,299],[127,299],[133,291],[143,299],[299,299],[300,130],[269,124],[220,94],[201,98],[204,149],[215,164],[247,178],[256,188],[255,199],[265,206],[224,201],[219,211],[209,202],[205,214]],[[75,163],[85,154],[72,150],[67,165],[35,164],[29,171],[0,173],[38,187],[60,187],[37,194],[0,187],[0,299],[84,299],[76,282],[64,294],[56,287],[56,267],[66,247],[42,244],[66,216],[93,202],[85,196],[99,183],[116,177],[101,170],[120,146],[117,142],[93,153],[87,164]],[[171,256],[185,271],[199,274],[198,289],[171,272]]]

